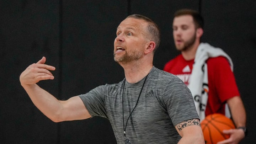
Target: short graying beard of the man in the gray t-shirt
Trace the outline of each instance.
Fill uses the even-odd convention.
[[[119,64],[120,63],[127,64],[129,62],[138,60],[141,57],[142,57],[142,52],[140,52],[138,49],[135,49],[129,53],[127,53],[126,51],[125,54],[122,55],[121,57],[116,57],[116,53],[114,53],[114,61],[116,61]]]

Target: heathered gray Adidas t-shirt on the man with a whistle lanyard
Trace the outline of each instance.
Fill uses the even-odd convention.
[[[124,138],[123,114],[125,126],[144,80],[130,84],[124,79],[118,84],[98,86],[80,95],[80,98],[92,117],[101,116],[110,120],[118,144],[124,144],[125,139],[132,144],[178,143],[181,137],[175,125],[199,118],[193,97],[182,80],[155,67],[146,78],[138,104],[128,120]]]

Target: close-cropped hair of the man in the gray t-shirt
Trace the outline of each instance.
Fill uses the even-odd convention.
[[[154,21],[152,21],[150,18],[145,17],[143,15],[134,14],[134,15],[129,15],[127,18],[129,18],[129,17],[136,18],[136,19],[142,19],[142,20],[148,22],[148,33],[150,34],[150,36],[149,36],[150,41],[154,41],[156,44],[155,49],[154,49],[154,52],[155,52],[160,44],[160,30],[159,30],[158,25],[156,25],[156,23]]]

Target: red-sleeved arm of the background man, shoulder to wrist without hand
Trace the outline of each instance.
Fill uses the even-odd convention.
[[[236,127],[245,127],[246,113],[244,104],[239,96],[238,87],[235,82],[235,76],[230,69],[228,60],[223,57],[219,57],[215,60],[215,63],[210,61],[209,67],[214,73],[215,87],[218,92],[218,96],[221,102],[228,104],[232,119]]]

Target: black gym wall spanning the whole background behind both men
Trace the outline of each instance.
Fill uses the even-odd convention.
[[[223,48],[233,59],[248,117],[249,133],[241,143],[256,143],[254,0],[0,0],[0,5],[1,143],[116,143],[105,118],[50,121],[20,86],[20,73],[45,56],[47,64],[56,67],[55,79],[38,85],[61,100],[121,81],[124,73],[113,60],[113,41],[117,26],[129,14],[145,15],[159,25],[161,43],[154,65],[162,69],[178,54],[172,19],[180,8],[201,10],[205,18],[202,41]]]

